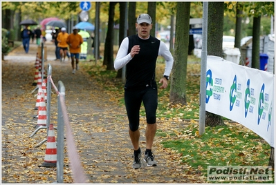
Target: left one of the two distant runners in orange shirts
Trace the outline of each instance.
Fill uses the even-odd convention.
[[[62,28],[62,32],[59,32],[59,34],[57,35],[57,46],[59,47],[60,61],[65,61],[66,53],[68,50],[68,44],[66,42],[68,36],[69,35],[66,32],[66,28]]]

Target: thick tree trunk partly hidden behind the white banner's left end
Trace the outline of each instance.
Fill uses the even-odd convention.
[[[223,2],[208,3],[208,55],[222,57],[223,13]],[[225,124],[223,123],[223,117],[206,111],[205,125],[221,126]]]

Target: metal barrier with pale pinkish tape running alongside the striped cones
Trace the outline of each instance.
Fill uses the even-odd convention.
[[[44,49],[42,44],[42,77],[44,73]],[[68,150],[68,158],[70,162],[70,168],[73,174],[74,183],[88,183],[88,179],[84,173],[80,162],[80,156],[77,153],[77,147],[73,139],[73,133],[71,130],[68,113],[65,104],[65,86],[62,81],[58,81],[58,88],[55,86],[52,79],[52,66],[48,64],[48,77],[47,77],[47,108],[46,108],[46,126],[40,126],[35,132],[30,135],[33,137],[40,129],[47,129],[47,138],[50,126],[50,106],[51,106],[51,85],[55,88],[57,93],[57,182],[64,182],[64,125],[66,126],[66,146]],[[41,146],[46,142],[44,139],[37,144],[36,147]],[[47,149],[46,149],[47,150]],[[45,166],[46,167],[46,166]]]

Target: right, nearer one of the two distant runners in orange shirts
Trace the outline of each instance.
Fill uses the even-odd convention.
[[[71,33],[66,42],[69,45],[70,53],[71,53],[71,64],[73,68],[73,74],[75,74],[75,70],[79,69],[79,59],[80,59],[80,46],[84,42],[82,36],[77,33],[77,28],[73,27],[73,33]],[[75,64],[76,63],[76,64]]]

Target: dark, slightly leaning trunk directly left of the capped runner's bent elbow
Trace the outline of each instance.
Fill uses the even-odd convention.
[[[114,57],[113,57],[113,36],[114,36],[114,12],[116,2],[109,3],[109,23],[107,26],[107,39],[104,44],[104,62],[107,70],[114,70]]]

